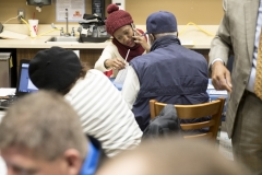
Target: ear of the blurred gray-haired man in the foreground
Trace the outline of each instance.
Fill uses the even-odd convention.
[[[68,174],[78,175],[83,164],[80,152],[75,149],[69,149],[63,153],[63,158],[67,163]]]

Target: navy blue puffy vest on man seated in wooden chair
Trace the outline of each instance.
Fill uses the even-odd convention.
[[[182,47],[174,35],[157,38],[151,52],[132,59],[130,65],[140,81],[132,110],[142,130],[150,121],[150,100],[183,105],[209,101],[205,58]]]

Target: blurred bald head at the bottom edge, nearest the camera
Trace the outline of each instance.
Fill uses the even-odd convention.
[[[96,175],[247,175],[207,142],[179,138],[147,141],[105,163]]]

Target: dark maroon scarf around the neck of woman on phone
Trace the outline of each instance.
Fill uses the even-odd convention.
[[[142,34],[144,33],[141,30],[138,30],[138,31],[140,33],[142,33]],[[145,39],[147,40],[146,36],[145,36]],[[129,46],[122,45],[115,37],[112,38],[112,44],[115,46],[117,46],[118,51],[122,56],[123,59],[126,58],[126,56],[128,54],[128,50],[130,49],[129,56],[127,58],[128,62],[131,61],[134,57],[141,56],[144,52],[144,50],[145,50],[140,44],[136,44],[136,43],[135,43],[135,45],[133,47],[129,47]]]

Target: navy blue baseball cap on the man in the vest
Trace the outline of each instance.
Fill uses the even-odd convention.
[[[146,19],[146,33],[160,34],[177,32],[177,20],[175,15],[167,11],[152,13]]]

